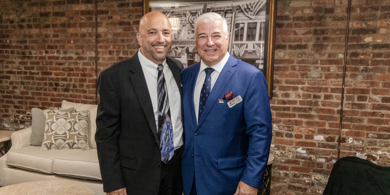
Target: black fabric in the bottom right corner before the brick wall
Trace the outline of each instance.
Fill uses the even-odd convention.
[[[340,158],[323,195],[390,195],[390,167],[354,156]]]

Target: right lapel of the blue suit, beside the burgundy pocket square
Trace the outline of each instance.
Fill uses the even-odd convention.
[[[221,94],[223,88],[225,87],[227,82],[229,82],[234,71],[236,71],[236,69],[233,68],[233,66],[236,66],[236,65],[237,65],[237,59],[234,58],[230,54],[229,60],[227,60],[220,75],[218,76],[218,79],[216,80],[216,82],[214,84],[213,89],[211,90],[211,92],[209,94],[209,97],[207,97],[206,105],[204,106],[204,110],[203,110],[202,116],[199,119],[199,123],[198,123],[197,128],[199,128],[199,126],[202,124],[204,119],[206,119],[211,108],[215,104],[215,101],[218,99],[219,94]]]

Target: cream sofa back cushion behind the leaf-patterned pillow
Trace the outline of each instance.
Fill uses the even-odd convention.
[[[76,111],[89,110],[89,124],[88,124],[88,144],[91,148],[96,148],[95,133],[96,133],[96,114],[97,105],[73,103],[66,100],[62,100],[61,109],[72,108]]]

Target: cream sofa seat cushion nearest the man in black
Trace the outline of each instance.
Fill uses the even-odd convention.
[[[53,161],[53,173],[67,177],[101,180],[97,150],[78,151],[56,157]]]

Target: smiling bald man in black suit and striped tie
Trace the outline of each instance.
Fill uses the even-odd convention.
[[[181,195],[183,64],[167,57],[172,27],[160,12],[140,20],[140,49],[102,71],[96,145],[107,195]]]

